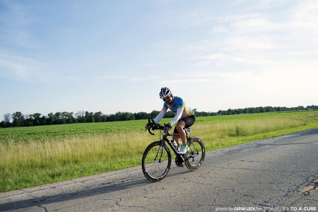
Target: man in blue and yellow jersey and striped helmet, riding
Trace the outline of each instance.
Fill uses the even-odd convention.
[[[173,133],[179,135],[174,135],[172,139],[176,141],[177,146],[180,146],[178,154],[185,154],[189,148],[187,145],[186,134],[183,129],[191,127],[196,121],[194,110],[191,110],[182,98],[173,96],[170,89],[167,87],[161,88],[159,97],[164,101],[163,108],[154,121],[158,123],[163,118],[168,108],[175,114],[175,117],[166,124],[166,131],[169,131],[172,128],[172,125],[177,122]],[[179,138],[181,138],[182,145],[180,145]]]

